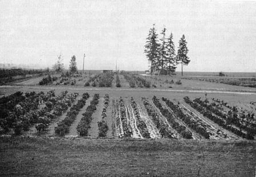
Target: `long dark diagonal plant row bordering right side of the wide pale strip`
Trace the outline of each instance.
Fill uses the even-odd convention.
[[[242,132],[242,130],[238,130],[237,128],[232,127],[230,122],[227,122],[223,120],[223,118],[219,118],[218,116],[212,115],[211,110],[208,110],[207,108],[204,108],[203,106],[197,103],[198,100],[192,102],[190,98],[188,98],[188,96],[184,97],[184,100],[187,104],[190,104],[192,108],[200,112],[203,116],[206,116],[208,119],[212,120],[214,123],[218,124],[220,127],[223,127],[226,130],[229,130],[234,134],[241,136],[242,138],[254,139],[254,136],[253,134],[251,134],[251,132],[247,132],[247,134],[245,134],[244,132]]]

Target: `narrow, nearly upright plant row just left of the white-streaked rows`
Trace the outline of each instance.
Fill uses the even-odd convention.
[[[100,122],[98,122],[98,127],[99,127],[99,136],[100,137],[105,137],[107,136],[107,132],[108,132],[108,124],[107,121],[105,120],[106,116],[107,116],[107,108],[109,106],[109,95],[105,94],[104,96],[104,108],[103,108],[103,112],[102,112],[102,119]]]

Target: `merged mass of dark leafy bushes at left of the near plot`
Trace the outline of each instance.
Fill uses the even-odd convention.
[[[68,106],[76,99],[76,95],[67,95],[67,91],[61,92],[56,96],[54,91],[44,92],[30,92],[26,93],[25,99],[22,100],[14,108],[9,107],[8,114],[1,119],[1,132],[6,133],[10,128],[14,128],[16,135],[21,134],[22,131],[28,131],[33,124],[37,124],[39,131],[47,128],[46,125],[56,118],[62,111],[66,110]],[[45,103],[45,107],[38,110],[38,106]],[[6,103],[8,105],[8,102]],[[39,125],[39,126],[38,126]]]

